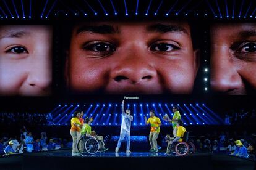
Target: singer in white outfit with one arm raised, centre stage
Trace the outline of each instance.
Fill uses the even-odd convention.
[[[120,131],[120,137],[117,143],[116,152],[119,151],[121,146],[121,142],[126,137],[126,152],[130,152],[130,123],[133,121],[132,115],[130,115],[130,110],[126,109],[124,112],[124,100],[122,100],[122,125]]]

